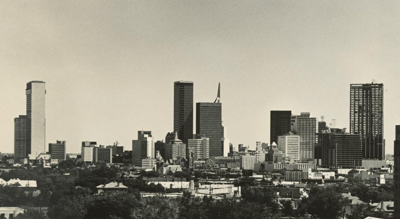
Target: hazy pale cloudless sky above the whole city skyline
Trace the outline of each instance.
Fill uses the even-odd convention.
[[[228,137],[250,149],[269,142],[270,110],[348,128],[350,84],[375,80],[392,153],[399,10],[359,0],[1,1],[0,151],[14,150],[32,80],[46,82],[46,145],[65,140],[67,153],[82,141],[131,150],[142,129],[165,139],[178,80],[194,82],[194,104],[213,102],[220,82]]]

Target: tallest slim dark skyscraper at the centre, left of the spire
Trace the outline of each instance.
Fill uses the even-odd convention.
[[[193,82],[174,82],[174,131],[184,143],[193,137]]]

